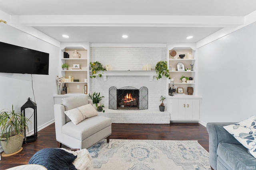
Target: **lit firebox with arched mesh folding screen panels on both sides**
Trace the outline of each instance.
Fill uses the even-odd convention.
[[[109,109],[142,110],[148,109],[148,88],[136,89],[131,86],[110,87]]]

